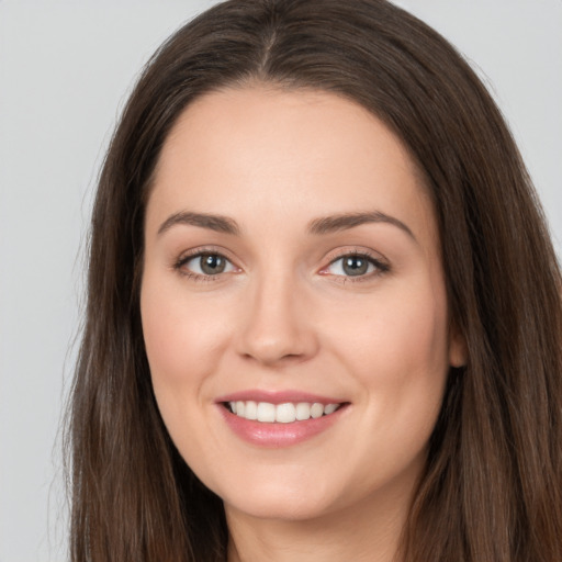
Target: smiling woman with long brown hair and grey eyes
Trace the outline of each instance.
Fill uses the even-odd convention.
[[[236,0],[100,178],[72,560],[562,559],[560,271],[454,49],[385,1]]]

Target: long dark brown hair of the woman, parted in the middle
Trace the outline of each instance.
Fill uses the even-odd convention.
[[[196,97],[256,81],[366,106],[434,200],[469,362],[449,374],[401,558],[562,560],[561,276],[490,94],[440,35],[387,1],[232,0],[155,54],[100,176],[68,429],[72,561],[225,560],[222,503],[179,456],[153,395],[138,281],[168,132]]]

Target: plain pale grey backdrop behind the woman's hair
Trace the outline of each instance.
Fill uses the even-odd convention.
[[[0,0],[0,562],[66,560],[59,428],[95,178],[143,64],[213,3]],[[560,255],[562,0],[397,3],[492,90]]]

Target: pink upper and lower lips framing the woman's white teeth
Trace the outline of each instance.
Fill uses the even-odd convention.
[[[306,419],[305,422],[293,422],[291,424],[280,423],[261,423],[256,420],[246,419],[233,414],[228,408],[224,406],[227,402],[237,401],[255,401],[255,402],[269,402],[270,404],[283,404],[283,403],[321,403],[321,404],[344,404],[336,412],[328,416],[322,416],[318,418]],[[345,401],[338,398],[329,398],[326,396],[318,396],[315,394],[302,393],[302,392],[263,392],[263,391],[243,391],[234,394],[222,396],[216,401],[218,412],[223,416],[226,425],[237,435],[239,438],[249,442],[265,448],[282,448],[299,445],[303,441],[312,439],[313,437],[322,434],[336,424],[349,405]]]

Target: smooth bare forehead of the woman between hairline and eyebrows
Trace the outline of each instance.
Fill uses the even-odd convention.
[[[336,94],[267,87],[195,100],[169,134],[148,214],[263,214],[378,210],[432,227],[432,209],[406,148],[372,113]]]

